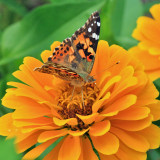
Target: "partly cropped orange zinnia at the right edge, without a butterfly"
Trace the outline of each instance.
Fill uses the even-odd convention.
[[[152,80],[160,78],[160,4],[154,5],[150,12],[153,18],[140,17],[132,36],[139,40],[130,49],[145,66],[145,72]]]

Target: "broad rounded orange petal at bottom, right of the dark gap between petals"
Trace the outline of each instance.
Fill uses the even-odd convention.
[[[105,155],[115,154],[119,148],[119,140],[112,133],[107,132],[103,136],[91,136],[94,147]]]

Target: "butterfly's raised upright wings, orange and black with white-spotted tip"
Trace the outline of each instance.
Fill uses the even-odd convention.
[[[99,32],[100,17],[98,12],[94,12],[84,26],[55,48],[45,66],[51,69],[52,63],[62,65],[62,71],[68,68],[86,81],[94,64]]]

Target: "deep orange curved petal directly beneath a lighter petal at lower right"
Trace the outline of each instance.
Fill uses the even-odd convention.
[[[139,131],[151,125],[152,119],[152,116],[148,116],[145,119],[137,121],[112,120],[111,124],[112,126],[122,128],[127,131]]]

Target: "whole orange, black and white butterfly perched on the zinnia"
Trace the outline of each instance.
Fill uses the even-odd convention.
[[[48,61],[35,70],[55,75],[74,85],[95,81],[89,74],[95,60],[99,33],[100,16],[94,12],[84,26],[56,47]]]

